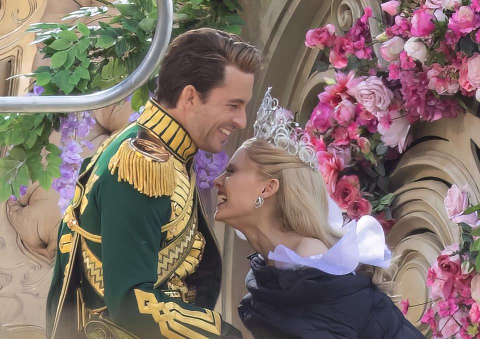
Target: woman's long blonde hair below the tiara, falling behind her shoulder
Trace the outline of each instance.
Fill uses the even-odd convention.
[[[328,197],[321,173],[265,140],[248,139],[242,147],[260,179],[278,180],[277,196],[284,230],[319,239],[328,248],[333,246],[341,234],[328,224]],[[382,269],[361,265],[358,270],[370,275],[378,288],[391,294],[393,266]]]

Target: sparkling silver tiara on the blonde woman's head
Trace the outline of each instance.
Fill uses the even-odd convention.
[[[317,170],[315,147],[310,136],[293,121],[292,114],[285,114],[285,110],[278,106],[278,100],[272,99],[270,91],[271,87],[268,87],[256,113],[253,137],[284,149]]]

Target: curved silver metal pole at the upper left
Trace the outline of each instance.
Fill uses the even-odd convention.
[[[171,36],[173,5],[171,0],[156,0],[158,18],[150,49],[140,66],[125,80],[100,92],[86,95],[0,97],[0,113],[77,112],[117,103],[140,88],[157,68]]]

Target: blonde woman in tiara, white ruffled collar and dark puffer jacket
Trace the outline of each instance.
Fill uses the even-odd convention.
[[[245,326],[255,338],[423,338],[383,292],[391,253],[381,226],[369,216],[330,225],[314,148],[269,90],[254,130],[215,179],[215,220],[257,252],[239,306]]]

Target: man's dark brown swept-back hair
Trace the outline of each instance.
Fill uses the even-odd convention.
[[[163,57],[157,79],[155,100],[175,108],[181,91],[192,85],[205,102],[210,90],[221,87],[225,66],[244,73],[256,73],[262,64],[259,48],[238,36],[210,28],[200,28],[176,37]]]

